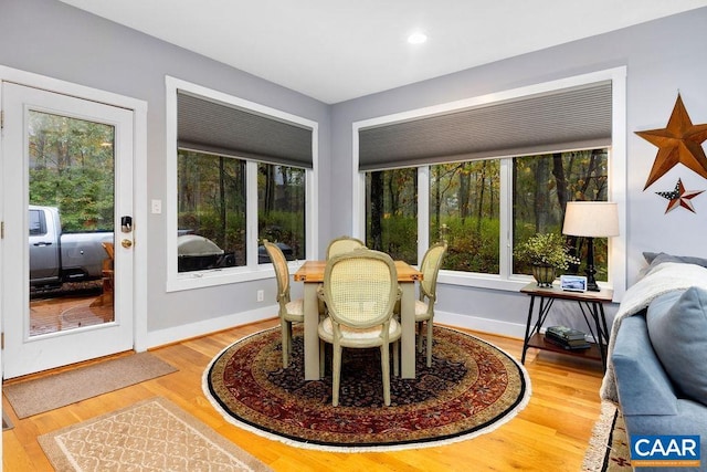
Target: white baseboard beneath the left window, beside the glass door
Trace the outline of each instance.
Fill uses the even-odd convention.
[[[146,348],[150,349],[192,337],[204,336],[235,326],[268,319],[276,315],[277,305],[270,305],[250,312],[234,313],[226,316],[219,316],[218,318],[150,332],[147,334]]]

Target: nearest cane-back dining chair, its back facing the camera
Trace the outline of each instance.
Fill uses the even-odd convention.
[[[346,348],[380,347],[383,402],[390,406],[390,344],[398,375],[400,323],[393,318],[399,294],[398,272],[390,255],[358,249],[335,255],[324,272],[328,316],[319,323],[319,338],[334,346],[331,403],[339,405],[341,354]]]

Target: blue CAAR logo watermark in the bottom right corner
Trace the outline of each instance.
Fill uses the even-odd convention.
[[[698,468],[699,436],[631,437],[631,465],[634,468]]]

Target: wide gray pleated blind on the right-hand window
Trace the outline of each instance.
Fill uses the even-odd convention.
[[[359,129],[359,169],[527,156],[611,144],[611,82]]]

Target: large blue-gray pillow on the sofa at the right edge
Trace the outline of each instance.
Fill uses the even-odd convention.
[[[677,389],[707,405],[707,291],[690,287],[667,304],[658,298],[648,307],[653,349]]]

